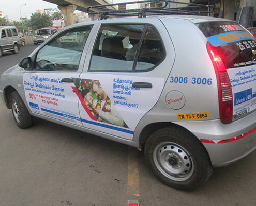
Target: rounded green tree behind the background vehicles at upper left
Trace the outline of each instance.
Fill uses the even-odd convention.
[[[52,26],[52,20],[50,16],[41,13],[32,13],[30,18],[30,24],[32,30],[40,29],[43,27]]]

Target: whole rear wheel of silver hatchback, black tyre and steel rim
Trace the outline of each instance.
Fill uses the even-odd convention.
[[[182,127],[162,128],[151,134],[144,154],[154,174],[177,190],[194,190],[212,175],[213,167],[206,149]]]

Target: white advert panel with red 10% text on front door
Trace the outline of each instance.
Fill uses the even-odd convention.
[[[78,73],[68,73],[78,77]],[[73,82],[62,82],[67,73],[28,72],[23,75],[26,101],[29,109],[38,114],[82,125],[78,110],[78,97]]]

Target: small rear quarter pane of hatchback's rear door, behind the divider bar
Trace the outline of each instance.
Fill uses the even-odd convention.
[[[148,70],[164,58],[164,49],[160,36],[152,26],[148,26],[142,41],[136,70]]]

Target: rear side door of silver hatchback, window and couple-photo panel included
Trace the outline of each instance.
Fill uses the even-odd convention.
[[[73,89],[84,127],[131,140],[160,97],[174,49],[158,19],[125,21],[100,25]]]

